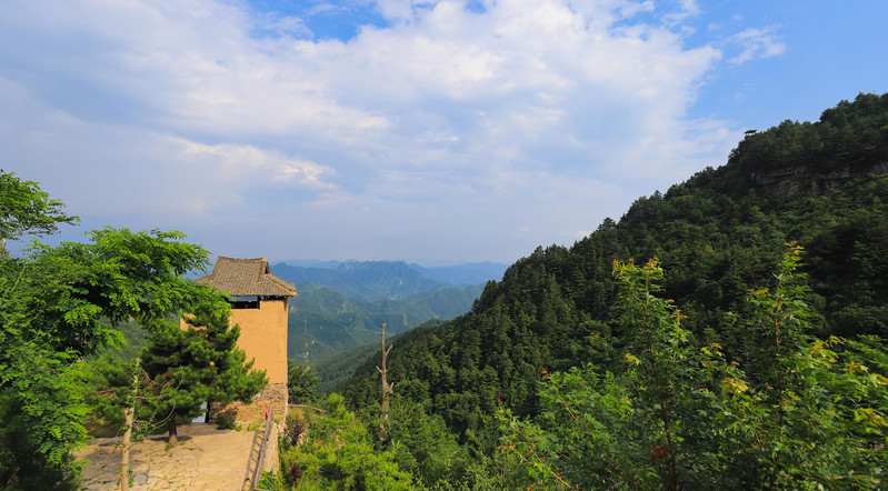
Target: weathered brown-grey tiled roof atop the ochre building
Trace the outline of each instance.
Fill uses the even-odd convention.
[[[220,255],[212,272],[194,282],[212,284],[233,297],[296,297],[296,285],[271,274],[266,258]]]

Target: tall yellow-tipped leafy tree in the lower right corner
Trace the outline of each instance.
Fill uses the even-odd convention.
[[[715,400],[715,423],[725,429],[725,472],[750,488],[881,488],[884,345],[811,334],[801,248],[788,246],[775,287],[752,289],[752,314],[738,320],[754,333],[756,354],[747,367],[720,365],[728,398]]]

